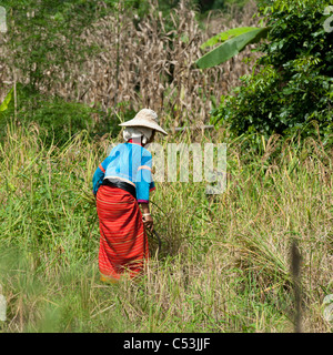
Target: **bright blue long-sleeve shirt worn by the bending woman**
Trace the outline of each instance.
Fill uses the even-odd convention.
[[[133,143],[118,144],[95,170],[93,193],[104,179],[118,178],[135,186],[139,203],[148,203],[150,191],[155,189],[151,169],[152,155],[147,149]]]

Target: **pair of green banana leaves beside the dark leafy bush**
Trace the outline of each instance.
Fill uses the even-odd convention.
[[[258,43],[262,39],[268,38],[270,29],[270,27],[241,27],[221,32],[209,39],[200,48],[204,49],[206,47],[215,45],[220,42],[222,42],[222,44],[214,48],[203,57],[199,58],[195,61],[195,64],[200,69],[205,69],[224,63],[229,59],[244,50],[246,45]]]

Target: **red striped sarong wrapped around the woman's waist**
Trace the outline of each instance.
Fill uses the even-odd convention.
[[[127,191],[101,185],[97,193],[100,222],[101,280],[118,281],[128,272],[135,277],[149,257],[148,237],[138,201]]]

